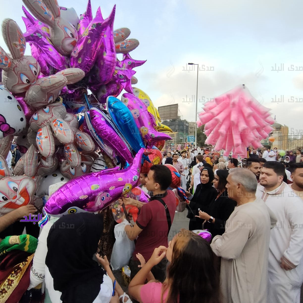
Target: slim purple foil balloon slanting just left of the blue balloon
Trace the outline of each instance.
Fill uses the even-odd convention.
[[[105,114],[100,112],[97,108],[91,108],[89,115],[93,128],[103,142],[115,152],[115,155],[119,156],[120,160],[132,163],[133,156],[130,150],[109,122],[106,121],[104,117]]]

